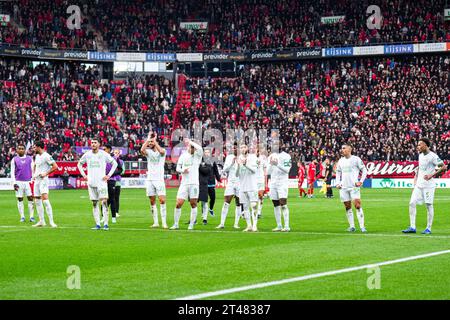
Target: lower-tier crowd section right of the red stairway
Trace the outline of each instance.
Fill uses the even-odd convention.
[[[413,160],[420,136],[449,157],[445,56],[247,65],[238,79],[194,79],[184,127],[279,129],[294,159],[338,157],[353,143],[366,160]]]

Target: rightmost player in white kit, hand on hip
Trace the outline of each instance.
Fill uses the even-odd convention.
[[[431,234],[431,227],[434,218],[434,191],[436,184],[434,177],[447,169],[439,156],[430,150],[431,141],[428,138],[422,138],[417,144],[419,152],[418,172],[414,177],[414,190],[409,201],[409,219],[410,225],[403,233],[416,233],[416,205],[423,204],[427,206],[427,228],[422,234]],[[436,169],[438,168],[438,169]]]

